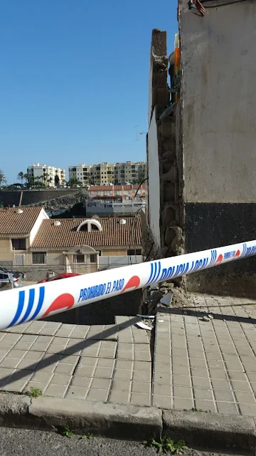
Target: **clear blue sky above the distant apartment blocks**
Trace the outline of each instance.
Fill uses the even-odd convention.
[[[145,160],[152,28],[176,0],[0,0],[0,169]]]

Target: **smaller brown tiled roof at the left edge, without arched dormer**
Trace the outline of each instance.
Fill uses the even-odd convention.
[[[17,209],[22,209],[18,214]],[[0,209],[1,234],[28,234],[38,218],[41,207],[6,207]]]

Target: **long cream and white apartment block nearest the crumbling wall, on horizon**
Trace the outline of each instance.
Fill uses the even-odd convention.
[[[141,182],[146,174],[145,162],[110,163],[98,165],[77,165],[68,168],[69,179],[82,182],[82,185],[125,184],[126,182]]]

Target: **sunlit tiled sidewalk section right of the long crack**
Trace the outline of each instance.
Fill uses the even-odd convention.
[[[193,304],[156,318],[152,405],[256,416],[256,301],[200,295]]]

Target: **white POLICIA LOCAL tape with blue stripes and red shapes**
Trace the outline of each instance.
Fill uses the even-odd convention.
[[[0,329],[256,254],[256,240],[1,291]]]

